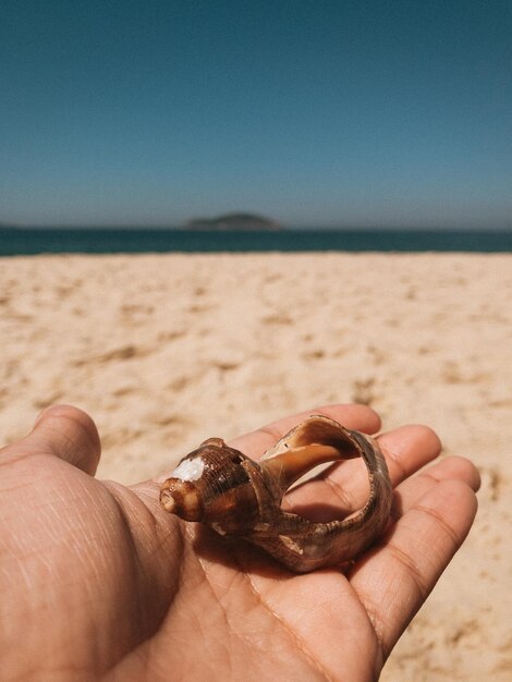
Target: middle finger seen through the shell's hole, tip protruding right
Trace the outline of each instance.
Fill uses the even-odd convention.
[[[393,487],[436,459],[441,448],[436,434],[419,425],[397,428],[377,440],[386,456]],[[368,495],[368,472],[359,458],[329,467],[314,480],[290,492],[288,501],[293,506],[313,507],[315,501],[321,500],[318,514],[312,510],[308,516],[315,521],[329,521],[332,509],[338,509],[340,514],[355,511],[365,504]]]

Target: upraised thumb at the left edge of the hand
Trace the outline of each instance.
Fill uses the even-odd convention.
[[[98,430],[85,412],[71,405],[54,405],[39,415],[28,436],[3,449],[2,459],[51,454],[94,475],[100,450]]]

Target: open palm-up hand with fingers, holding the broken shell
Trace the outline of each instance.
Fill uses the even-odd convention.
[[[380,426],[363,406],[315,412]],[[231,444],[258,456],[307,414]],[[376,679],[464,540],[479,485],[460,458],[411,478],[439,454],[426,427],[379,442],[397,486],[390,529],[344,573],[294,575],[244,543],[230,555],[214,533],[198,547],[197,526],[160,508],[156,482],[94,478],[92,419],[47,410],[0,451],[2,680]],[[316,486],[322,502],[361,507],[356,464],[304,486],[297,502]]]

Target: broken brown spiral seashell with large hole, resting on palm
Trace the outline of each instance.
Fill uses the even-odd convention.
[[[285,491],[313,467],[357,456],[369,477],[369,497],[358,512],[319,523],[281,509]],[[209,438],[181,460],[160,491],[168,512],[258,545],[298,573],[339,565],[364,551],[386,527],[391,500],[377,442],[319,415],[293,428],[259,462]]]

